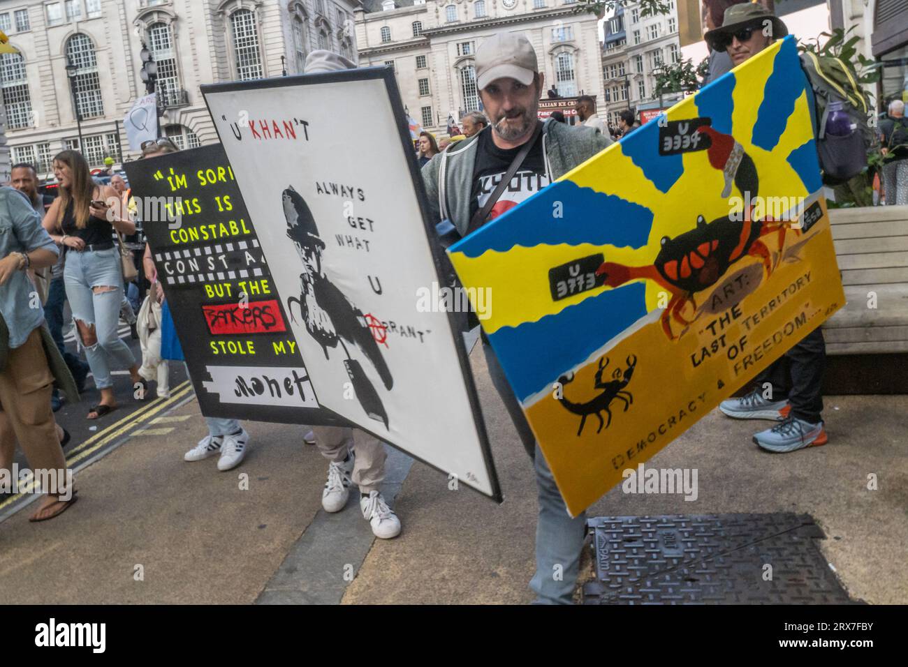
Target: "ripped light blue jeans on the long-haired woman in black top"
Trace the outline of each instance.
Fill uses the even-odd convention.
[[[116,248],[108,250],[67,250],[64,284],[73,319],[94,324],[97,338],[93,345],[85,345],[85,357],[94,375],[94,386],[106,389],[114,386],[111,367],[131,368],[135,358],[129,346],[117,333],[120,321],[120,303],[123,300],[123,272]],[[112,287],[95,292],[95,287]],[[83,340],[76,326],[76,335]]]

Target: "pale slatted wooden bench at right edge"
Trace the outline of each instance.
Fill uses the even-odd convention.
[[[826,352],[908,352],[908,206],[831,209],[829,218],[846,305],[823,325]]]

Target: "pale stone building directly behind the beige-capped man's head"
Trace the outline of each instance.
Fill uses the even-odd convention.
[[[503,30],[528,34],[547,89],[592,95],[606,118],[597,18],[575,0],[363,0],[354,15],[360,66],[393,66],[410,116],[431,132],[479,109],[476,49]]]

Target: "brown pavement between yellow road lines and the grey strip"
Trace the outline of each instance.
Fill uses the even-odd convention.
[[[64,515],[30,524],[25,510],[0,525],[0,603],[256,599],[321,508],[324,459],[302,444],[299,426],[245,422],[242,466],[219,472],[216,456],[187,463],[207,428],[194,400],[175,414],[192,417],[84,469]]]

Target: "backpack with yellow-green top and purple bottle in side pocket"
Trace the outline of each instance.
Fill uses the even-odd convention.
[[[873,142],[873,129],[869,123],[872,111],[851,68],[841,59],[807,51],[801,54],[801,65],[814,91],[816,150],[823,182],[826,185],[844,183],[867,166],[867,150]],[[844,103],[844,110],[852,122],[853,131],[848,136],[826,133],[829,106],[834,102]]]

